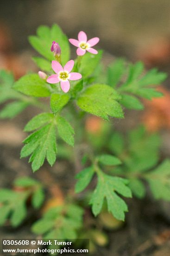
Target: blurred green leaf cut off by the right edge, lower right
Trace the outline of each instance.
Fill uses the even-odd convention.
[[[145,175],[155,199],[170,201],[170,160],[164,160],[157,168]]]

